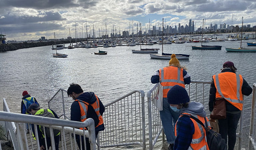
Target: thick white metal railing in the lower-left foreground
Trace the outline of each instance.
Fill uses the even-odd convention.
[[[3,99],[4,104],[6,104],[5,99]],[[5,105],[5,108],[8,108]],[[37,134],[37,125],[43,126],[43,132],[45,134],[45,127],[50,128],[50,138],[51,138],[51,149],[55,150],[54,146],[54,135],[53,129],[58,129],[61,131],[61,147],[63,149],[77,149],[76,145],[76,137],[75,134],[80,135],[80,143],[81,143],[81,136],[88,137],[90,142],[90,147],[92,150],[96,150],[96,138],[95,138],[95,127],[93,119],[89,118],[84,122],[77,122],[77,121],[69,121],[63,119],[56,119],[56,118],[49,118],[49,117],[41,117],[41,116],[33,116],[33,115],[25,115],[25,114],[18,114],[18,113],[11,113],[11,112],[4,112],[0,111],[0,121],[4,121],[7,126],[5,125],[6,131],[9,131],[14,149],[17,150],[28,150],[28,149],[40,149],[39,141],[34,140],[33,136],[31,135],[32,131],[29,128],[30,135],[27,138],[26,135],[26,123],[34,124],[34,131],[35,137],[38,139]],[[9,126],[10,124],[14,126]],[[80,130],[76,128],[83,128],[87,127],[88,131]],[[12,129],[11,129],[12,128]],[[11,130],[13,132],[11,132]],[[72,138],[72,136],[74,138]],[[47,142],[46,142],[47,144]],[[84,143],[85,144],[85,140]],[[47,146],[46,146],[47,149]]]

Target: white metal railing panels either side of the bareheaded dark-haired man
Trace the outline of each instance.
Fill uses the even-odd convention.
[[[144,97],[144,91],[134,90],[104,106],[105,112],[102,117],[105,130],[98,134],[98,149],[128,145],[138,145],[146,149]],[[59,89],[48,102],[48,106],[58,116],[70,119],[73,101],[66,90]]]

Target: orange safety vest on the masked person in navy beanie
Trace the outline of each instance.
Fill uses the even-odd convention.
[[[194,114],[189,114],[189,113],[182,113],[180,115],[180,117],[182,117],[183,115],[189,115],[189,116],[194,116],[197,119],[199,119],[200,121],[202,121],[202,123],[204,125],[210,124],[208,118],[206,117],[207,123],[205,123],[204,117],[198,116],[198,115],[194,115]],[[191,121],[194,124],[195,127],[195,132],[192,136],[192,141],[191,144],[188,148],[188,150],[209,150],[209,147],[207,145],[207,140],[206,140],[206,132],[205,132],[205,128],[198,122],[196,122],[194,119],[190,118]],[[177,125],[177,123],[176,123]],[[177,137],[177,131],[176,131],[176,125],[175,125],[175,137]]]

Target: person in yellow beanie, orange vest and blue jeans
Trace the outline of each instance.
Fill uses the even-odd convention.
[[[179,118],[179,110],[176,107],[170,107],[166,98],[167,92],[174,85],[185,87],[185,84],[190,84],[190,75],[187,73],[186,67],[180,65],[176,55],[172,54],[169,66],[157,70],[151,77],[151,83],[158,82],[163,86],[163,110],[159,111],[160,117],[167,143],[169,143],[168,150],[172,150],[175,140],[174,126]]]

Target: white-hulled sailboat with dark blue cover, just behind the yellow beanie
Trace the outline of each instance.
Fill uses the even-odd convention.
[[[163,32],[162,32],[162,40],[164,39],[164,18],[163,18]],[[171,59],[172,54],[163,53],[164,44],[162,44],[162,54],[150,54],[151,58],[157,59]],[[175,54],[177,59],[189,59],[189,55],[186,54]]]

